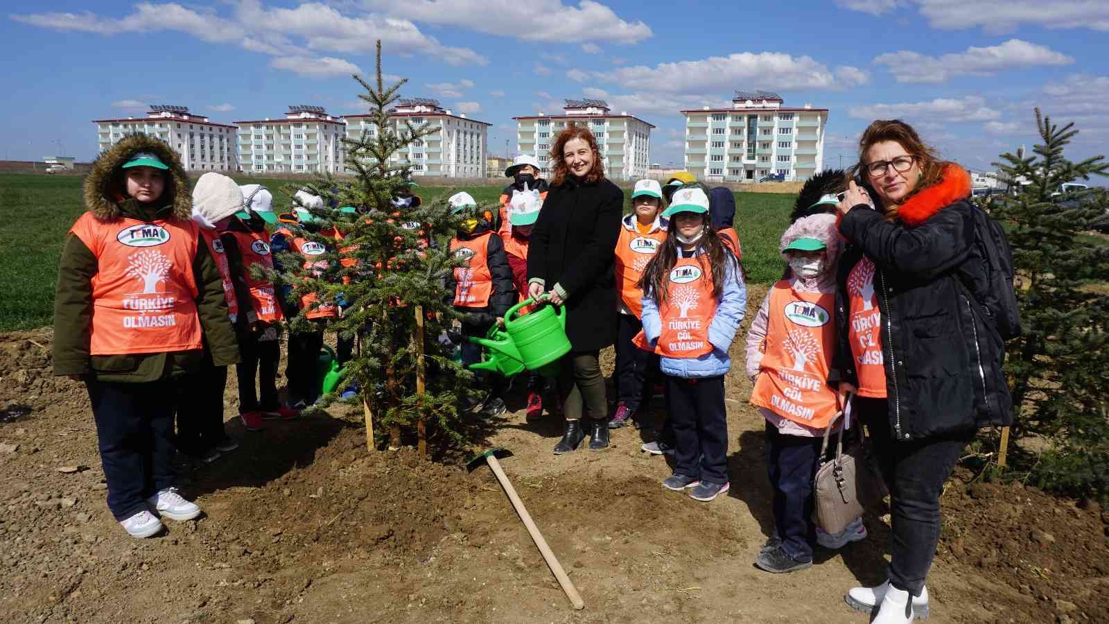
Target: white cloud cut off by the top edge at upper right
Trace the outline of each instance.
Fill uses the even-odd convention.
[[[836,0],[836,4],[872,16],[915,7],[929,26],[944,30],[981,27],[1008,32],[1021,24],[1109,30],[1109,2],[1102,0]]]

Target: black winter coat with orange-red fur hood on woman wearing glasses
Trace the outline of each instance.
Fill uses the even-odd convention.
[[[1000,335],[964,284],[984,279],[970,178],[949,164],[936,185],[909,198],[894,221],[866,204],[840,222],[836,369],[857,385],[847,339],[847,275],[865,254],[875,264],[882,312],[889,430],[917,440],[1013,420]]]

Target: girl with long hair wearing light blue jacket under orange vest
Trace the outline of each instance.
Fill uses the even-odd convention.
[[[667,417],[675,437],[674,474],[668,490],[691,489],[696,501],[728,492],[728,350],[746,310],[739,260],[712,229],[709,197],[680,189],[670,208],[667,240],[640,280],[643,331],[637,344],[660,355]]]

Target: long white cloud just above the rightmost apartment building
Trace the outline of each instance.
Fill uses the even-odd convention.
[[[811,57],[782,52],[737,52],[659,63],[653,68],[615,68],[593,76],[625,89],[670,93],[726,92],[736,84],[759,84],[763,89],[846,89],[868,80],[866,72],[857,68],[840,67],[833,73]]]

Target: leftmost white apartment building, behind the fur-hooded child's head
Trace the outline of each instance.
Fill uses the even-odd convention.
[[[125,134],[156,137],[177,152],[187,171],[237,171],[234,125],[214,123],[189,112],[189,107],[151,104],[145,118],[95,119],[100,151]]]

